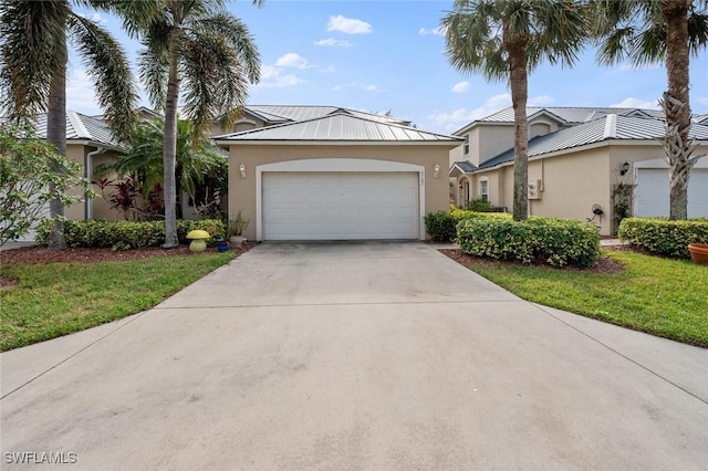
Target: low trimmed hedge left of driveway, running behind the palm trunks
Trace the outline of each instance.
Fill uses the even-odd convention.
[[[37,243],[46,245],[51,222],[43,221],[37,231]],[[177,237],[187,243],[187,233],[204,229],[212,237],[225,237],[226,228],[218,219],[177,221]],[[110,247],[113,250],[128,250],[140,247],[159,247],[165,243],[165,221],[64,221],[64,238],[69,247]]]

